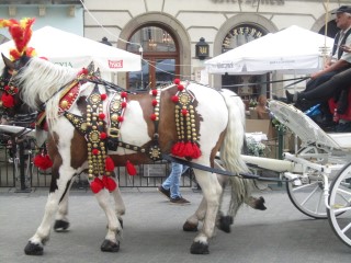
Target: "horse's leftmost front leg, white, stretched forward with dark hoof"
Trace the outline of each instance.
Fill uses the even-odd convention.
[[[64,197],[65,190],[70,185],[70,181],[75,174],[75,171],[70,167],[64,167],[58,163],[61,162],[61,158],[57,156],[54,159],[54,167],[52,170],[52,185],[50,193],[48,194],[45,205],[44,217],[39,227],[29,243],[24,248],[24,252],[27,255],[42,255],[44,252],[43,245],[49,239],[50,226],[53,217],[57,211],[59,201]],[[59,167],[59,169],[58,169]],[[60,176],[59,176],[60,175]]]

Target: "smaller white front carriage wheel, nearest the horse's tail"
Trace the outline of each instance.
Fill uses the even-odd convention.
[[[304,155],[319,152],[315,146],[307,146],[298,151],[299,157]],[[316,159],[317,162],[321,162],[322,159]],[[286,191],[291,202],[294,206],[312,218],[327,219],[327,208],[324,201],[324,180],[319,174],[309,174],[301,178],[302,185],[294,185],[293,183],[286,183]]]

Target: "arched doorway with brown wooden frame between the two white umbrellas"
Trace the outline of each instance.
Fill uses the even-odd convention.
[[[158,24],[144,25],[132,34],[129,42],[143,47],[143,65],[141,71],[128,75],[128,89],[155,89],[171,83],[180,75],[179,45],[168,28]],[[139,53],[139,47],[127,45],[127,50]]]

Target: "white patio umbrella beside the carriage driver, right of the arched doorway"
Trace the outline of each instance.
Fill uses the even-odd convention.
[[[333,39],[292,25],[205,61],[210,73],[261,75],[270,71],[308,73],[321,68],[321,48]]]

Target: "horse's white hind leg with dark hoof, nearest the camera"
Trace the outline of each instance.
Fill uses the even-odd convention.
[[[200,184],[206,201],[206,214],[203,227],[194,239],[190,252],[192,254],[208,254],[208,239],[214,235],[215,221],[219,207],[223,188],[216,174],[195,170],[196,181]]]

